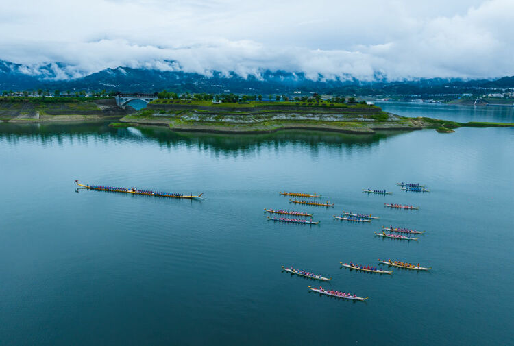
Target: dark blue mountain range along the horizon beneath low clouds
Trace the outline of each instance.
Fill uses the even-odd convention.
[[[514,76],[500,79],[415,79],[387,81],[380,74],[374,82],[363,82],[350,75],[337,79],[317,80],[304,73],[287,71],[263,71],[259,77],[243,78],[236,73],[225,75],[214,71],[211,76],[183,71],[158,71],[117,67],[84,75],[73,66],[51,63],[25,66],[0,60],[0,92],[2,90],[66,90],[121,92],[158,92],[167,89],[174,92],[284,94],[293,91],[319,92],[334,95],[439,95],[477,93],[479,88],[514,88]]]

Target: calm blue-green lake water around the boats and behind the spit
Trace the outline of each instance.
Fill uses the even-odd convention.
[[[498,121],[473,108],[443,112]],[[513,128],[217,136],[0,124],[0,344],[507,345],[513,148]],[[75,179],[205,199],[77,190]],[[402,192],[401,181],[431,192]],[[363,194],[368,187],[393,195]],[[284,189],[322,193],[335,207],[293,206],[278,195]],[[273,223],[263,208],[312,211],[321,224]],[[334,221],[341,210],[381,219]],[[382,239],[374,236],[382,225],[426,233]],[[433,269],[373,275],[339,266],[377,258]],[[310,293],[319,282],[282,264],[369,299]]]

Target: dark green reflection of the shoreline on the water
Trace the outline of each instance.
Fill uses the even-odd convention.
[[[390,136],[404,132],[382,132],[371,135],[339,134],[332,132],[313,132],[287,130],[271,134],[206,134],[191,132],[172,132],[166,127],[143,126],[130,128],[113,128],[108,123],[42,123],[42,124],[0,124],[0,139],[10,145],[20,140],[37,140],[43,145],[58,143],[63,140],[71,143],[88,143],[95,140],[109,141],[130,140],[132,142],[154,141],[160,147],[169,149],[185,146],[196,147],[201,151],[215,154],[237,155],[238,153],[260,152],[260,149],[284,145],[302,145],[310,147],[315,153],[320,147],[332,149],[371,148]]]

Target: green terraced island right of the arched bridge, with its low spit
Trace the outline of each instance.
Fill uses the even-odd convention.
[[[121,122],[168,126],[176,132],[216,132],[256,134],[282,129],[305,129],[374,134],[384,130],[444,128],[446,132],[463,126],[513,126],[509,123],[457,123],[431,118],[408,118],[383,112],[365,103],[262,102],[212,103],[197,100],[151,101],[147,108],[129,114]]]

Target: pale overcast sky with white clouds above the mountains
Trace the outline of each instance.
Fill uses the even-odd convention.
[[[0,59],[68,74],[147,66],[370,79],[514,75],[514,0],[24,0]],[[178,64],[169,64],[174,60]]]

